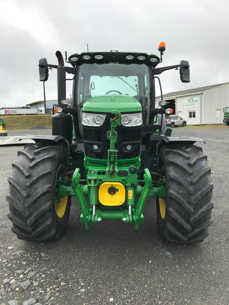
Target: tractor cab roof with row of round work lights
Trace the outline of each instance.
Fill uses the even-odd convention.
[[[160,62],[160,58],[155,54],[118,51],[74,53],[68,60],[73,66],[82,63],[144,63],[155,67]]]

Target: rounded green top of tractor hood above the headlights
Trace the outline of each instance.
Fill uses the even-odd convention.
[[[121,113],[141,111],[142,107],[133,96],[130,95],[96,95],[83,104],[83,111],[111,112],[118,110]]]

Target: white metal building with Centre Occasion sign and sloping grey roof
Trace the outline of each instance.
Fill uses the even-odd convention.
[[[161,96],[156,97],[156,105]],[[163,95],[164,108],[187,121],[188,125],[222,124],[223,108],[229,106],[229,82],[212,86],[170,92]]]

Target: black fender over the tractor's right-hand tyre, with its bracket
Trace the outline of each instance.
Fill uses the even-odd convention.
[[[151,138],[152,137],[152,138]],[[158,156],[160,154],[162,146],[165,146],[167,144],[173,143],[173,144],[194,144],[195,142],[204,142],[201,138],[196,137],[169,137],[169,136],[163,136],[163,135],[151,135],[150,140],[151,141],[158,141],[156,146],[156,169],[157,171],[160,171],[160,167],[158,164]],[[159,138],[158,138],[159,137]],[[205,143],[206,144],[206,143]]]

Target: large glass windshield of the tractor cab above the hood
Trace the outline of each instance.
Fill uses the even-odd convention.
[[[85,101],[96,95],[123,94],[142,105],[144,124],[149,121],[150,68],[136,63],[84,63],[78,68],[76,86],[78,119]]]

